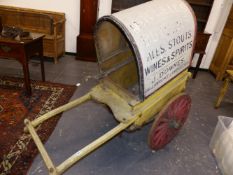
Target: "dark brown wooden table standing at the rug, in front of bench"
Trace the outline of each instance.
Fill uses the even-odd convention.
[[[14,59],[21,63],[24,73],[26,94],[31,95],[28,62],[31,56],[38,55],[41,63],[42,80],[45,81],[43,61],[43,34],[31,33],[31,39],[10,39],[0,37],[0,58]]]

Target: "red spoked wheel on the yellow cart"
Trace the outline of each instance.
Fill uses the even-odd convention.
[[[149,132],[149,147],[158,150],[167,145],[184,125],[191,108],[191,98],[179,94],[160,111]]]

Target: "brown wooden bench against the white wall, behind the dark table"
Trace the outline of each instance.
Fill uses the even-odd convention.
[[[53,57],[55,63],[65,53],[64,13],[0,5],[0,17],[3,25],[45,34],[43,54]]]

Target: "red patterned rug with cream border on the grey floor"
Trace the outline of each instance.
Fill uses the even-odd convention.
[[[67,103],[76,87],[32,81],[32,96],[25,96],[23,80],[0,77],[0,175],[24,175],[38,153],[30,135],[23,132],[24,119],[33,120]],[[39,126],[45,142],[59,116]]]

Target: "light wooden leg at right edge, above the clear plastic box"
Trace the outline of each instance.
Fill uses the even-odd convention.
[[[216,103],[215,103],[215,108],[218,108],[218,107],[220,106],[220,104],[221,104],[221,102],[222,102],[222,100],[223,100],[223,97],[224,97],[224,95],[226,94],[227,89],[228,89],[228,87],[229,87],[229,83],[230,83],[231,81],[233,81],[233,70],[227,70],[227,71],[226,71],[226,74],[227,74],[227,77],[226,77],[226,79],[224,80],[224,83],[223,83],[223,85],[222,85],[222,88],[221,88],[221,90],[220,90],[220,92],[219,92],[219,96],[218,96],[217,101],[216,101]]]

